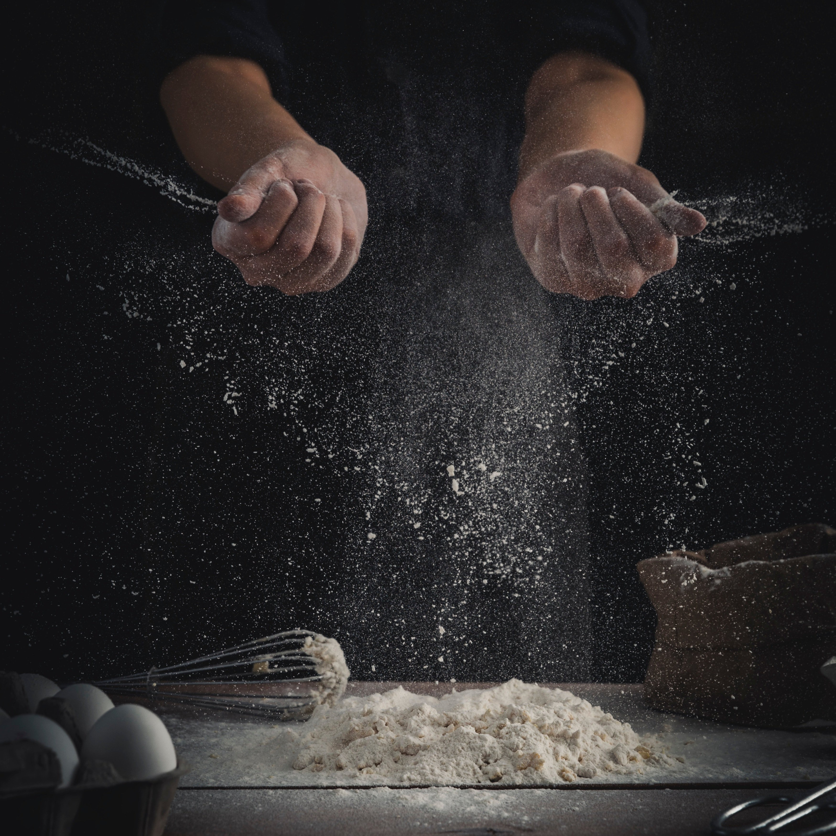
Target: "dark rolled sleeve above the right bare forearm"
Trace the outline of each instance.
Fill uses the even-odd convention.
[[[650,93],[652,51],[647,9],[640,0],[564,0],[523,3],[520,35],[533,72],[553,54],[582,49],[632,74]]]

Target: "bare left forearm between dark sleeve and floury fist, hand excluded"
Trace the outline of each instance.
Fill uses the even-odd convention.
[[[314,142],[246,59],[198,55],[166,76],[160,101],[186,162],[224,191],[280,145]]]

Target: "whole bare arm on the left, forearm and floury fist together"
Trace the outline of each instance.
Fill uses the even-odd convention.
[[[247,283],[295,294],[345,278],[368,220],[363,184],[273,99],[261,67],[199,55],[160,99],[191,168],[229,190],[212,242]]]

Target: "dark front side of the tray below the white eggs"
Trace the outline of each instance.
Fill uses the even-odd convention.
[[[16,836],[162,836],[189,767],[148,781],[0,792],[0,829]]]

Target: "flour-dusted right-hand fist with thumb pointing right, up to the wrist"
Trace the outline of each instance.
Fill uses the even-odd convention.
[[[511,197],[514,235],[553,293],[630,298],[676,263],[676,236],[706,219],[655,176],[603,150],[569,151],[523,177]]]

